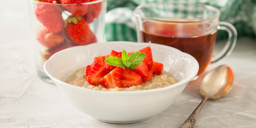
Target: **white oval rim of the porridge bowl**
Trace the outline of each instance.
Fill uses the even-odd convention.
[[[111,45],[111,44],[114,44],[114,45],[117,45],[117,44],[120,44],[122,43],[122,45],[126,45],[126,44],[129,44],[129,45],[145,45],[145,44],[149,44],[150,46],[160,46],[160,47],[167,47],[167,49],[172,49],[172,51],[174,52],[177,52],[178,54],[180,55],[183,55],[187,58],[190,59],[190,61],[192,62],[193,65],[195,65],[195,69],[193,69],[193,74],[191,74],[189,77],[187,77],[186,79],[183,79],[182,81],[178,82],[178,83],[175,83],[175,84],[172,84],[170,86],[166,86],[166,87],[161,87],[161,88],[157,88],[157,89],[149,89],[149,90],[138,90],[138,91],[100,91],[100,90],[92,90],[92,89],[86,89],[84,87],[79,87],[79,86],[75,86],[75,85],[71,85],[71,84],[68,84],[66,82],[63,82],[61,81],[60,79],[57,79],[55,77],[53,77],[49,71],[48,71],[48,65],[50,62],[54,61],[54,58],[58,57],[59,55],[63,54],[63,53],[66,53],[66,52],[69,52],[73,49],[77,49],[77,47],[88,47],[88,46],[93,46],[93,45],[101,45],[102,43],[108,43],[108,45]],[[81,48],[82,49],[82,48]],[[83,48],[83,49],[86,49],[86,48]],[[166,48],[165,48],[166,49]],[[138,93],[152,93],[152,92],[161,92],[161,91],[166,91],[166,90],[170,90],[170,89],[173,89],[175,87],[178,87],[178,86],[181,86],[183,84],[186,84],[188,83],[191,79],[193,79],[197,73],[198,73],[198,70],[199,70],[199,65],[198,65],[198,62],[197,60],[192,57],[190,54],[188,53],[185,53],[185,52],[181,52],[180,50],[178,49],[175,49],[174,47],[171,47],[171,46],[166,46],[166,45],[162,45],[162,44],[155,44],[155,43],[142,43],[142,42],[128,42],[128,41],[113,41],[113,42],[101,42],[101,43],[93,43],[93,44],[89,44],[89,45],[81,45],[81,46],[73,46],[73,47],[69,47],[67,49],[64,49],[64,50],[61,50],[55,54],[53,54],[47,61],[45,61],[44,63],[44,71],[46,73],[47,76],[49,76],[54,82],[58,82],[60,83],[61,85],[65,85],[65,86],[68,86],[68,87],[71,87],[73,89],[78,89],[80,91],[90,91],[90,92],[94,92],[94,93],[113,93],[113,94],[120,94],[120,93],[125,93],[125,94],[138,94]],[[56,84],[56,83],[55,83]],[[57,85],[57,84],[56,84]]]

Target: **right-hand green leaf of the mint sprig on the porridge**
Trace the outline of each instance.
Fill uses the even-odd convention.
[[[145,53],[135,52],[130,54],[129,55],[130,67],[128,68],[131,70],[137,68],[144,58],[145,58]]]

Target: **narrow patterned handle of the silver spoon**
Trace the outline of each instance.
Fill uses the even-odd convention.
[[[191,115],[186,119],[186,121],[179,128],[194,128],[196,125],[196,118],[200,111],[204,107],[208,98],[204,97],[201,103],[196,107],[196,109],[191,113]]]

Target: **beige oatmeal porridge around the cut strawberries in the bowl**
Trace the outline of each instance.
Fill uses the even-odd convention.
[[[153,79],[151,81],[143,82],[141,83],[141,85],[130,86],[130,87],[120,87],[120,88],[115,87],[115,88],[106,89],[104,86],[100,84],[98,86],[90,85],[86,81],[86,78],[84,77],[84,75],[85,75],[85,69],[84,68],[78,69],[76,73],[74,73],[68,78],[66,83],[79,86],[79,87],[84,87],[86,89],[99,90],[99,91],[139,91],[139,90],[162,88],[178,82],[176,79],[173,78],[173,76],[170,73],[167,73],[166,71],[162,71],[161,74],[153,75]]]

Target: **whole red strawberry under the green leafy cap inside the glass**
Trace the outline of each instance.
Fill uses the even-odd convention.
[[[89,44],[91,30],[88,23],[84,20],[78,20],[77,23],[70,22],[66,27],[68,37],[78,45]]]

